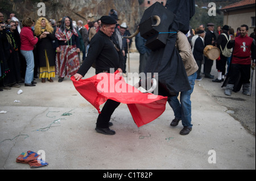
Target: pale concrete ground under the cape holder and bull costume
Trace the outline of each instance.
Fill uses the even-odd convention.
[[[138,71],[138,57],[131,53],[132,72]],[[92,75],[93,69],[86,78]],[[255,132],[255,85],[254,96],[236,93],[230,98],[245,100],[233,100],[222,98],[224,91],[211,80],[197,82],[191,98],[193,129],[188,136],[179,134],[181,124],[170,127],[174,113],[168,104],[162,116],[141,128],[121,104],[112,116],[116,134],[105,136],[94,130],[96,109],[70,79],[62,83],[57,78],[53,83],[36,81],[35,87],[22,85],[21,95],[16,88],[0,92],[0,111],[7,111],[0,114],[0,169],[29,170],[28,165],[15,162],[28,150],[44,150],[49,165],[39,168],[42,170],[255,169],[253,129],[243,127],[236,117],[236,112],[240,108],[245,111],[249,104],[254,110]],[[241,106],[236,110],[233,104]],[[216,163],[211,163],[214,156]]]

